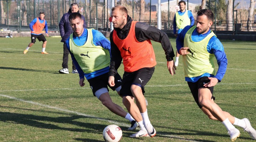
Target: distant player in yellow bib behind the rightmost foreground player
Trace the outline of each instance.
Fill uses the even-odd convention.
[[[178,6],[180,7],[180,11],[175,13],[173,23],[175,37],[178,36],[178,34],[182,31],[184,27],[188,25],[193,26],[194,24],[194,17],[191,11],[186,10],[186,2],[181,0],[180,2],[178,2]],[[176,32],[176,27],[178,27],[178,33]],[[176,51],[175,66],[178,66],[179,56],[180,54],[178,54],[178,51]]]

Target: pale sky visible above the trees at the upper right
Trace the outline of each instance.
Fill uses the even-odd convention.
[[[161,2],[167,2],[168,0],[161,0]],[[170,0],[172,1],[172,0]],[[184,0],[187,2],[187,0]],[[226,0],[227,1],[227,0]],[[146,3],[150,2],[150,0],[145,0]],[[156,4],[158,0],[151,0],[151,4]],[[188,2],[193,3],[193,4],[198,4],[201,5],[202,0],[188,0]],[[250,0],[235,0],[235,4],[240,2],[238,8],[242,7],[245,9],[248,9],[250,6]],[[256,5],[255,5],[256,8]]]

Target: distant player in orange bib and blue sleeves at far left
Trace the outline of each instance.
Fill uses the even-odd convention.
[[[49,54],[45,51],[47,40],[43,35],[43,28],[46,31],[46,36],[48,35],[48,27],[47,22],[44,20],[44,12],[39,13],[39,17],[35,18],[33,21],[30,22],[30,29],[31,29],[31,43],[28,44],[27,48],[23,51],[24,54],[28,52],[28,49],[34,45],[36,42],[36,39],[39,40],[39,42],[43,41],[42,45],[42,54]]]

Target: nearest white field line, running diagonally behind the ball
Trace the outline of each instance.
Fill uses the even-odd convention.
[[[87,114],[84,114],[84,113],[79,113],[77,111],[72,111],[72,110],[68,110],[68,109],[52,107],[50,105],[45,105],[45,104],[41,104],[41,103],[37,103],[37,102],[32,102],[32,101],[29,101],[29,100],[24,100],[24,99],[19,99],[19,98],[11,97],[9,95],[0,94],[0,97],[6,97],[6,98],[14,99],[14,100],[17,100],[17,101],[20,101],[20,102],[30,103],[30,104],[38,105],[38,106],[41,106],[41,107],[50,108],[50,109],[56,109],[56,110],[59,110],[59,111],[64,111],[66,113],[71,113],[71,114],[76,114],[76,115],[80,115],[80,116],[85,116],[85,117],[92,118],[92,119],[98,119],[98,120],[101,120],[101,121],[107,121],[110,124],[116,124],[118,126],[130,127],[127,124],[123,124],[123,123],[120,123],[120,122],[117,122],[117,121],[107,120],[107,119],[99,118],[99,117],[96,117],[96,116],[93,116],[93,115],[87,115]],[[182,138],[182,137],[175,136],[175,135],[162,135],[161,133],[158,133],[158,135],[159,136],[170,137],[170,138],[178,138],[180,140],[185,140],[185,141],[198,142],[198,141],[194,141],[194,140],[188,140],[186,138]]]

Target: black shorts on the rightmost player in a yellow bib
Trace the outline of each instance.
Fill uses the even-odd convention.
[[[188,87],[190,87],[190,91],[194,97],[194,100],[196,101],[197,105],[199,108],[202,108],[202,105],[199,104],[198,101],[198,89],[199,88],[208,88],[210,92],[213,94],[213,87],[204,87],[204,83],[208,83],[210,80],[208,79],[207,76],[201,77],[197,82],[187,82]],[[215,97],[212,95],[212,99],[215,100]]]

